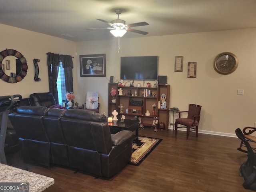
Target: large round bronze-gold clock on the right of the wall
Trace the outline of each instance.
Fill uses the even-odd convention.
[[[223,52],[216,56],[213,62],[213,68],[222,75],[227,75],[236,70],[238,66],[237,57],[230,52]]]

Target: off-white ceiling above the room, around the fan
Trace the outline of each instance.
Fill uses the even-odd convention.
[[[162,36],[256,27],[256,0],[0,0],[0,23],[72,41],[114,38],[109,27],[116,8],[126,24],[148,22],[122,38]],[[68,34],[72,38],[63,36]]]

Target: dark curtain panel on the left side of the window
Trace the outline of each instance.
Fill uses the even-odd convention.
[[[55,53],[47,53],[49,92],[53,94],[54,99],[58,102],[57,78],[58,68],[60,66],[60,55]]]

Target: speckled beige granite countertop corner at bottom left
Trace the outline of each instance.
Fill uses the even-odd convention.
[[[42,192],[54,184],[54,179],[0,163],[1,182],[28,182],[30,192]]]

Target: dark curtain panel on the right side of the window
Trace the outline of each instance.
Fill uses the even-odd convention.
[[[72,73],[72,69],[73,69],[72,56],[60,55],[60,61],[62,62],[62,66],[64,68],[66,91],[74,92],[74,90],[73,90],[73,73]]]

